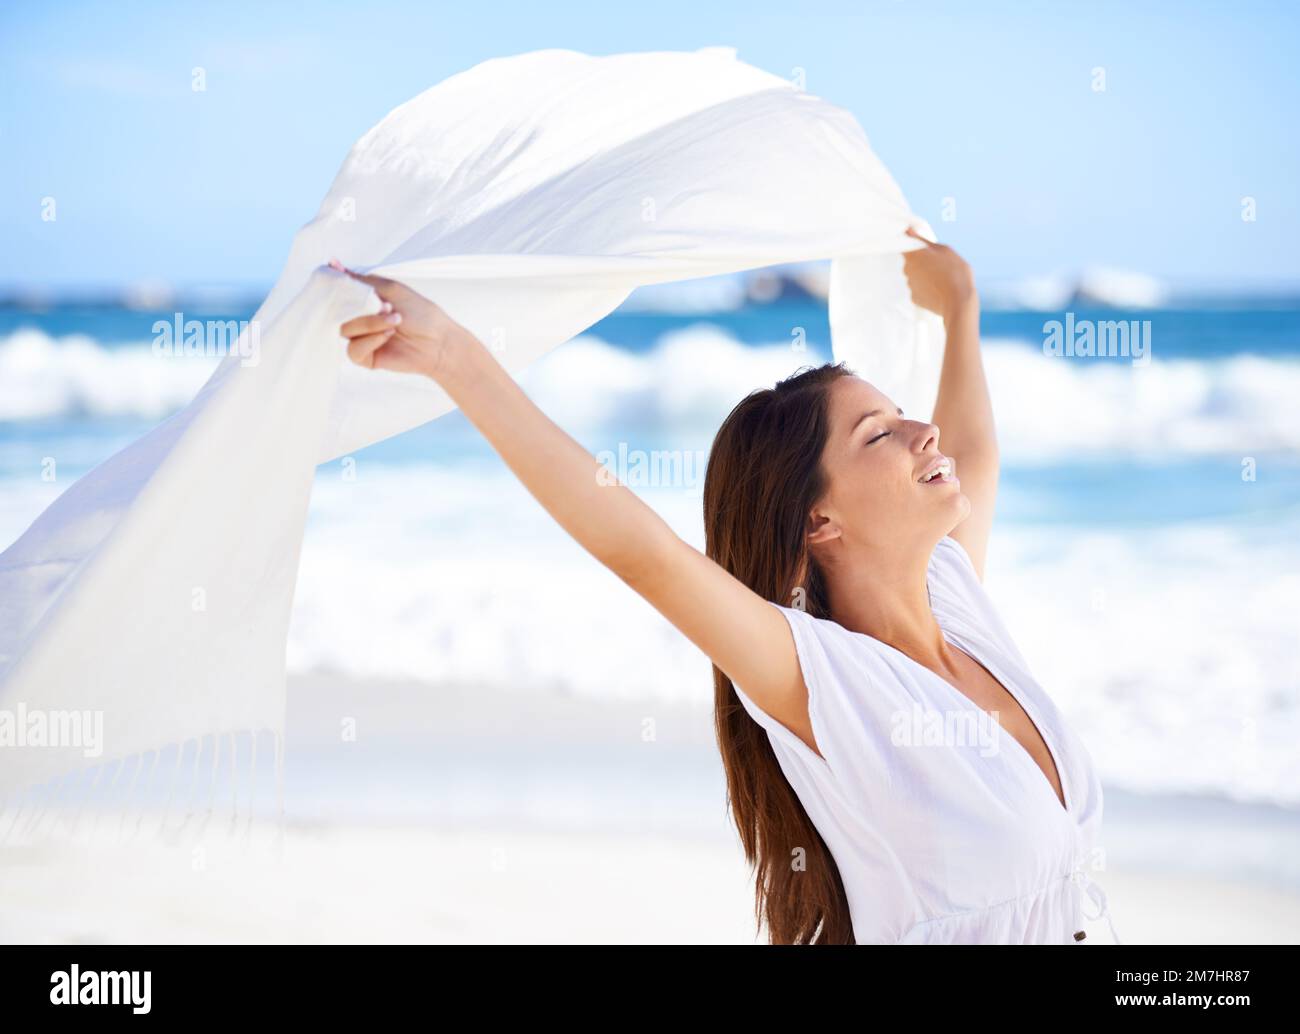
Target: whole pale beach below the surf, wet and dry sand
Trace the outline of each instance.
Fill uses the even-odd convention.
[[[280,852],[261,812],[246,840],[20,838],[0,940],[766,943],[711,735],[707,701],[295,679]],[[1106,800],[1123,943],[1296,942],[1294,814]]]

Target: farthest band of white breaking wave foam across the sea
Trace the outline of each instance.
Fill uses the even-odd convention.
[[[1008,459],[1141,453],[1254,455],[1300,450],[1300,360],[1235,355],[1147,367],[1070,360],[985,341],[984,362]],[[748,346],[701,323],[633,354],[584,334],[524,373],[547,412],[575,431],[628,420],[698,437],[748,391],[822,362],[788,342]],[[148,345],[20,330],[0,339],[0,420],[73,415],[160,418],[194,397],[214,359],[160,358]]]

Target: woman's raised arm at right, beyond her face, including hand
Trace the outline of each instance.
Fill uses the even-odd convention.
[[[924,239],[909,230],[909,234]],[[998,451],[993,404],[979,352],[979,295],[970,267],[946,245],[904,255],[904,271],[916,304],[944,317],[946,342],[933,423],[939,449],[956,460],[971,512],[953,529],[980,579],[997,499]]]

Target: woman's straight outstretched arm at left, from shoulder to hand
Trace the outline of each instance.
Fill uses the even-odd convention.
[[[410,287],[352,274],[385,311],[341,326],[352,362],[428,376],[451,395],[533,497],[763,710],[816,750],[785,618],[677,536],[546,416],[491,352]],[[393,317],[396,321],[389,323]]]

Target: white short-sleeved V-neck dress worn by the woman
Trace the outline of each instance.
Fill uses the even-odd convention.
[[[1037,726],[1066,806],[1028,750],[952,683],[872,636],[772,603],[794,633],[824,760],[736,692],[835,857],[854,939],[1072,944],[1084,920],[1105,917],[1118,943],[1092,878],[1104,865],[1092,760],[1034,680],[954,538],[935,548],[928,585],[944,637],[984,665]]]

